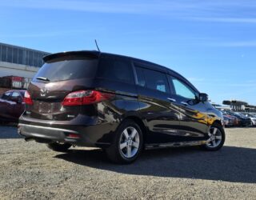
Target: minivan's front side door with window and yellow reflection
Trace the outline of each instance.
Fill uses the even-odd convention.
[[[208,134],[208,102],[198,101],[198,91],[186,80],[168,75],[174,91],[175,104],[180,110],[180,130],[186,141],[201,140]]]

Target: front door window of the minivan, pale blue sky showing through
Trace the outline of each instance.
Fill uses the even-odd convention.
[[[186,83],[179,81],[177,78],[172,78],[175,93],[183,98],[195,99],[196,92],[187,86]]]

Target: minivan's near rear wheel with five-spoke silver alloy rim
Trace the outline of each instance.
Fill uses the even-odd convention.
[[[134,162],[142,151],[142,130],[133,120],[127,119],[115,131],[112,145],[106,149],[110,161],[118,164]]]

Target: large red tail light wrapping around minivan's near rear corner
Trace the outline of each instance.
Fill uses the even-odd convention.
[[[95,102],[102,102],[110,99],[114,94],[103,93],[96,90],[79,90],[66,95],[62,102],[62,106],[82,106]]]

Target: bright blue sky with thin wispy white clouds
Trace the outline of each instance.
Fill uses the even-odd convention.
[[[256,1],[0,2],[0,42],[47,52],[95,50],[156,62],[212,102],[256,105]]]

